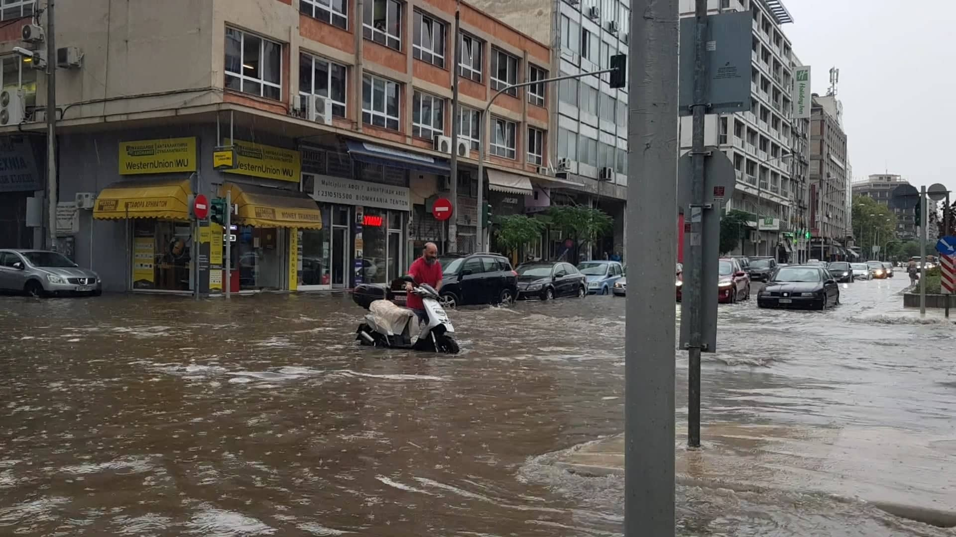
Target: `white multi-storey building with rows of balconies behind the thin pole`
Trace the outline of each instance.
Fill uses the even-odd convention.
[[[693,0],[682,0],[681,16],[694,15]],[[717,145],[737,173],[726,209],[755,216],[743,247],[735,253],[793,255],[793,67],[790,39],[783,25],[793,17],[777,0],[710,0],[708,12],[750,11],[752,15],[750,111],[706,117],[705,143]],[[691,148],[689,117],[681,118],[682,153]]]

